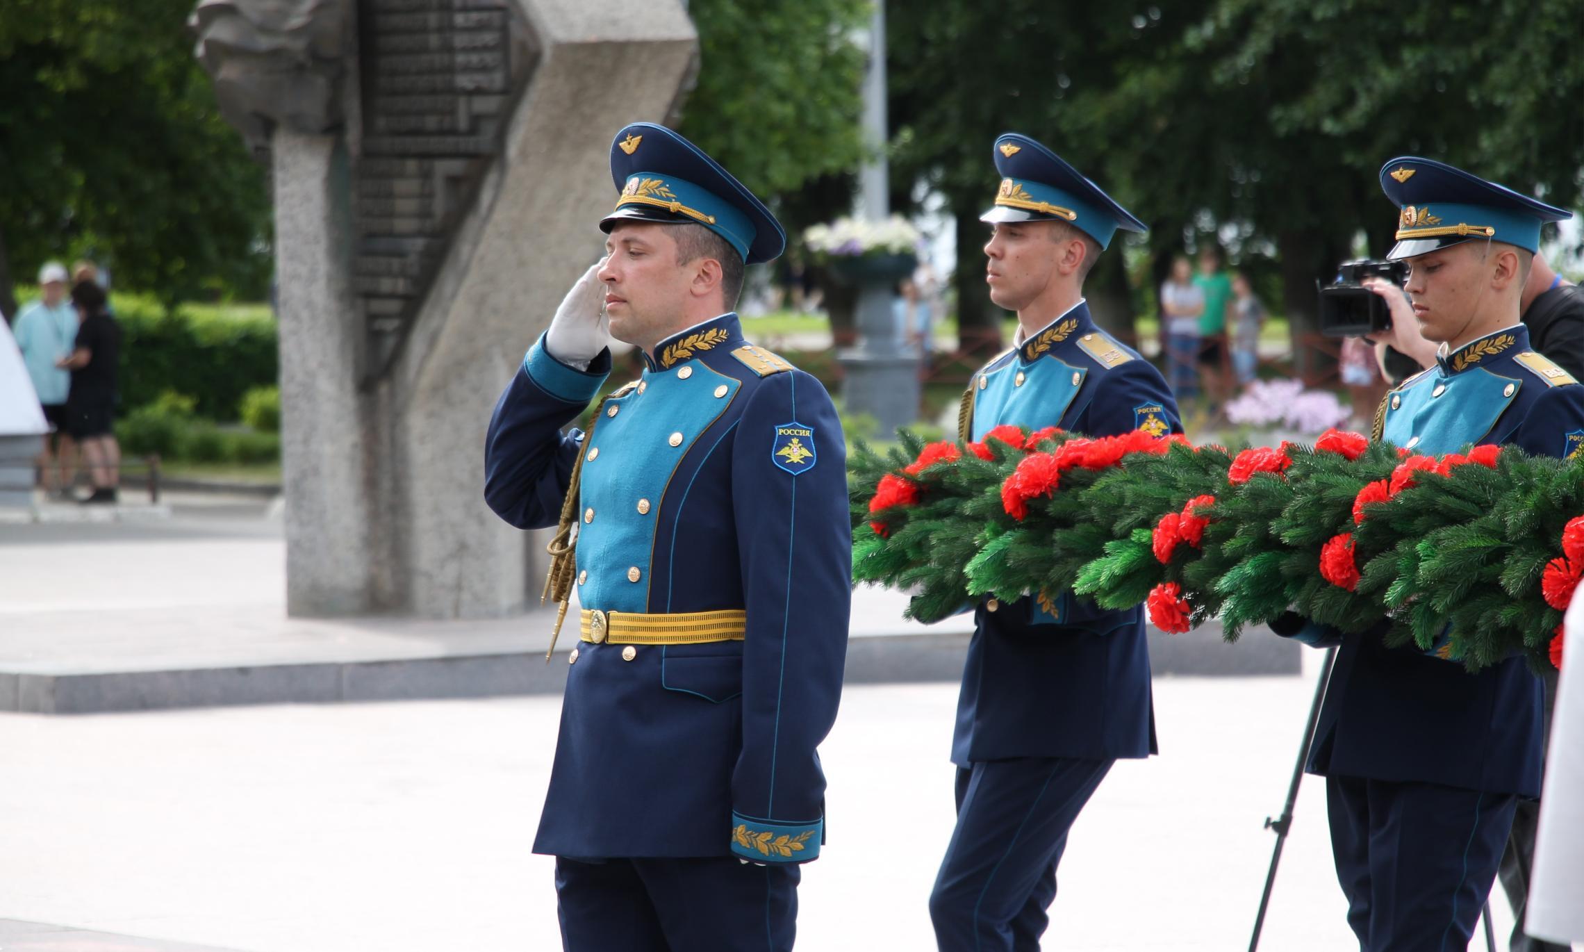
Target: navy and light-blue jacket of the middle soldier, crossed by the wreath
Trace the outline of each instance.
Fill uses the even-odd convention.
[[[1182,432],[1159,371],[1095,326],[1079,303],[974,374],[963,439],[993,426],[1085,436]],[[1050,610],[1053,608],[1053,611]],[[974,610],[952,764],[1009,757],[1147,757],[1155,748],[1144,608],[1104,611],[1072,592]]]

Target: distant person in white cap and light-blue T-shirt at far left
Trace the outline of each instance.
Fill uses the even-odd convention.
[[[40,299],[22,309],[16,317],[16,344],[22,350],[27,375],[33,380],[38,402],[44,407],[44,420],[52,436],[44,439],[44,451],[38,466],[44,477],[44,489],[68,494],[76,474],[76,442],[67,432],[67,393],[71,372],[57,366],[71,355],[78,337],[78,312],[67,299],[67,269],[59,261],[49,261],[38,269]],[[51,445],[54,444],[54,445]]]

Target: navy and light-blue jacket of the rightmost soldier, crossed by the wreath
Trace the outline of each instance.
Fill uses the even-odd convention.
[[[1530,352],[1517,325],[1403,380],[1381,404],[1376,436],[1430,456],[1483,444],[1571,456],[1584,445],[1584,387]],[[1413,646],[1388,649],[1383,629],[1272,627],[1340,645],[1310,773],[1540,795],[1543,699],[1524,659],[1470,675]]]

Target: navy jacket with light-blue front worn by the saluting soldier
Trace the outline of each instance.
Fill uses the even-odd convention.
[[[816,746],[836,718],[851,604],[841,425],[819,380],[751,347],[735,314],[656,355],[592,436],[562,432],[610,352],[580,372],[540,337],[489,421],[485,499],[513,526],[553,526],[583,453],[583,608],[746,610],[748,630],[578,645],[534,851],[806,862],[824,840]]]

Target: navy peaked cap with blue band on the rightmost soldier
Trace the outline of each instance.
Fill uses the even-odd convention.
[[[1381,166],[1381,190],[1397,206],[1392,261],[1475,238],[1540,250],[1540,227],[1573,212],[1487,182],[1460,168],[1402,155]]]

